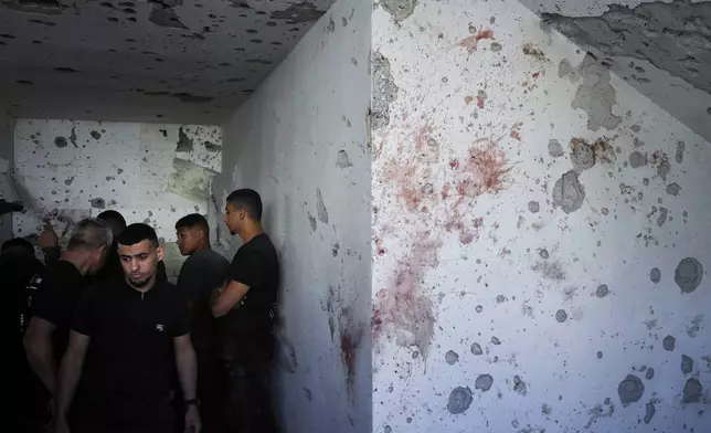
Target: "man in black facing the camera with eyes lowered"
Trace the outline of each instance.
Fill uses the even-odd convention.
[[[156,231],[142,223],[127,226],[118,255],[124,278],[95,285],[76,308],[60,368],[55,432],[70,431],[68,410],[82,379],[82,398],[72,410],[76,419],[68,420],[74,433],[172,433],[172,362],[187,399],[185,431],[199,432],[187,300],[157,277],[163,250]]]

